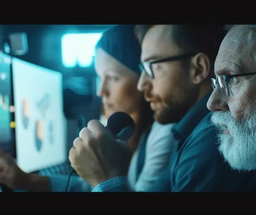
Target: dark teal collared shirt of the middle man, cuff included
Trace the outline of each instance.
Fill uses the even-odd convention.
[[[175,149],[162,177],[152,192],[250,192],[256,191],[256,172],[231,170],[216,145],[216,130],[210,122],[206,103],[210,93],[198,101],[172,132]],[[117,177],[96,186],[92,192],[131,191],[126,177]]]

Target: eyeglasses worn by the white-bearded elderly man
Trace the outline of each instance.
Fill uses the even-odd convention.
[[[256,75],[256,72],[247,73],[247,74],[229,75],[229,76],[225,76],[225,75],[217,76],[216,79],[212,78],[212,88],[214,90],[216,88],[216,83],[217,83],[222,96],[224,98],[228,98],[230,92],[227,84],[227,79],[233,78],[233,77],[239,77],[239,76],[249,76],[249,75]]]

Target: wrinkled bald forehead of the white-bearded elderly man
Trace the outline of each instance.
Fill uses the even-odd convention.
[[[255,63],[255,51],[256,30],[248,25],[234,26],[220,45],[215,65],[219,67],[221,62],[229,61],[246,71]]]

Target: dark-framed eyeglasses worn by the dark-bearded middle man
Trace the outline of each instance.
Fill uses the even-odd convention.
[[[140,68],[141,72],[145,71],[150,78],[154,78],[154,72],[152,69],[153,64],[163,63],[163,62],[167,62],[167,61],[174,61],[174,60],[183,60],[183,59],[195,56],[195,55],[196,55],[196,53],[191,53],[191,54],[184,54],[184,55],[173,56],[173,57],[164,58],[164,59],[160,59],[160,60],[155,60],[155,61],[151,61],[151,62],[149,62],[149,61],[143,62],[143,63],[139,64],[139,68]]]

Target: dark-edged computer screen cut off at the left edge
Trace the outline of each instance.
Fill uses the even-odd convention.
[[[14,156],[11,57],[0,52],[0,148]]]

